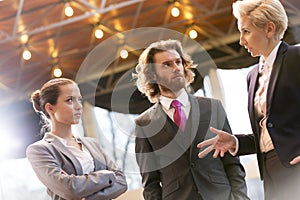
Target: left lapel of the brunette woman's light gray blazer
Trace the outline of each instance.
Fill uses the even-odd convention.
[[[77,160],[77,158],[55,136],[51,135],[50,133],[47,133],[44,136],[44,140],[47,141],[47,142],[50,142],[59,152],[61,152],[62,154],[64,154],[66,157],[68,157],[71,160],[77,174],[82,174],[83,173],[81,164]]]

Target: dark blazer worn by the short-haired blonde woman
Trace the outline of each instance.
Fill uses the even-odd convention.
[[[238,135],[238,155],[257,153],[261,178],[263,159],[259,148],[259,124],[254,96],[258,87],[258,66],[249,72],[248,112],[253,134]],[[279,160],[286,167],[300,155],[300,47],[282,42],[270,76],[267,90],[267,129]]]

